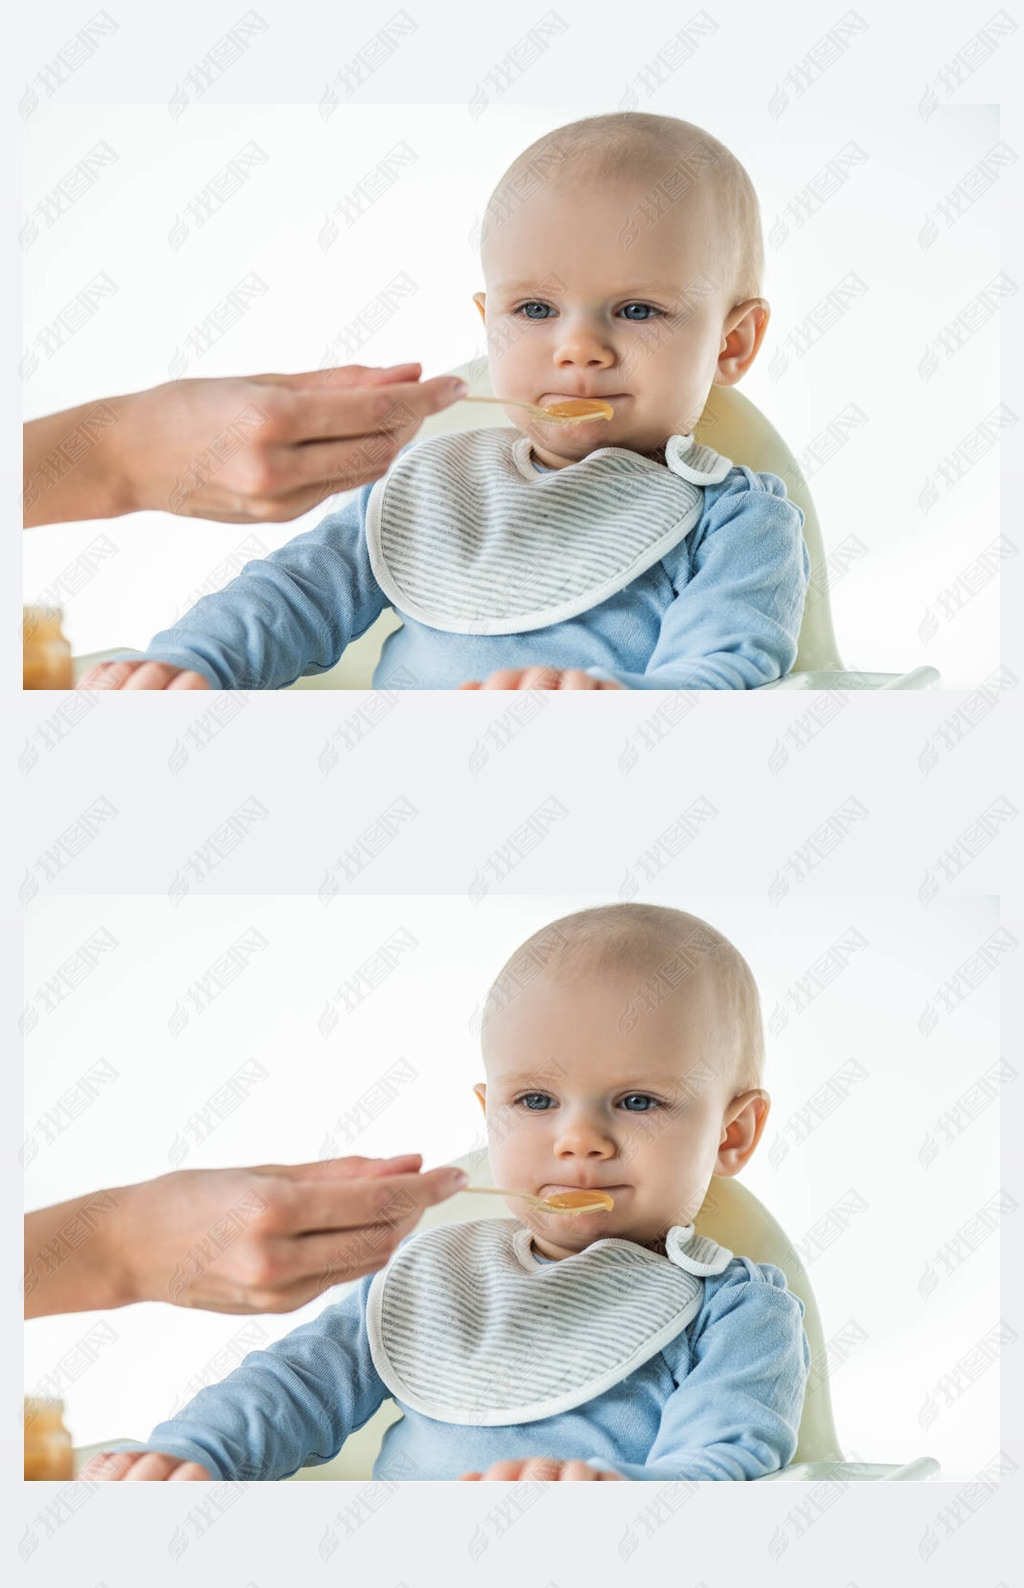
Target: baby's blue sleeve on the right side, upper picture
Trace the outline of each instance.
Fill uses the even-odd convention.
[[[797,659],[810,576],[802,530],[803,510],[778,475],[735,468],[708,486],[646,670],[591,667],[591,676],[627,689],[757,689],[783,678]]]

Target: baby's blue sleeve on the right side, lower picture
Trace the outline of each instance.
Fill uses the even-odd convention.
[[[753,1480],[787,1466],[811,1366],[802,1320],[803,1302],[781,1269],[733,1259],[692,1326],[689,1370],[684,1356],[681,1377],[673,1367],[676,1390],[648,1459],[589,1466],[676,1482]],[[670,1351],[665,1358],[672,1363]]]

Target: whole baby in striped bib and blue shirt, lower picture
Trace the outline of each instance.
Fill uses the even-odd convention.
[[[410,1235],[314,1323],[86,1477],[283,1478],[392,1396],[376,1478],[760,1478],[786,1466],[810,1369],[803,1302],[694,1220],[770,1099],[749,967],[695,916],[608,905],[516,950],[484,1007],[495,1185],[610,1210]]]

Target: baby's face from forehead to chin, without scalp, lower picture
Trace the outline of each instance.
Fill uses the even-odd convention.
[[[484,1026],[487,1137],[495,1186],[551,1196],[610,1191],[611,1212],[506,1205],[549,1258],[619,1235],[660,1248],[691,1224],[719,1166],[732,1088],[716,1016],[695,972],[633,1024],[641,977],[541,978]],[[622,1029],[619,1029],[622,1026]],[[632,1029],[630,1029],[632,1026]]]

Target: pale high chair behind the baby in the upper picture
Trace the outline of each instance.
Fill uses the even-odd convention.
[[[475,359],[462,364],[452,375],[460,375],[472,392],[492,395],[487,360]],[[452,403],[443,413],[435,413],[416,432],[416,440],[429,435],[446,435],[454,430],[481,430],[489,426],[508,426],[508,418],[497,407],[468,402]],[[794,669],[786,678],[762,689],[932,689],[938,683],[934,667],[914,667],[908,673],[848,672],[840,661],[832,630],[829,603],[830,567],[821,538],[821,524],[811,500],[806,480],[784,440],[768,424],[754,403],[732,386],[713,386],[695,438],[714,448],[733,464],[743,464],[756,473],[778,475],[786,483],[787,495],[803,508],[803,538],[811,557],[811,578],[803,607],[803,622]],[[325,502],[329,511],[337,511],[343,502],[356,495],[348,491]],[[291,689],[370,689],[373,669],[381,646],[389,634],[402,626],[402,619],[389,607],[359,640],[348,646],[335,667],[313,678],[298,678]],[[81,676],[97,662],[124,654],[124,648],[111,646],[92,656],[75,659],[75,676]],[[140,654],[138,651],[129,654]]]

